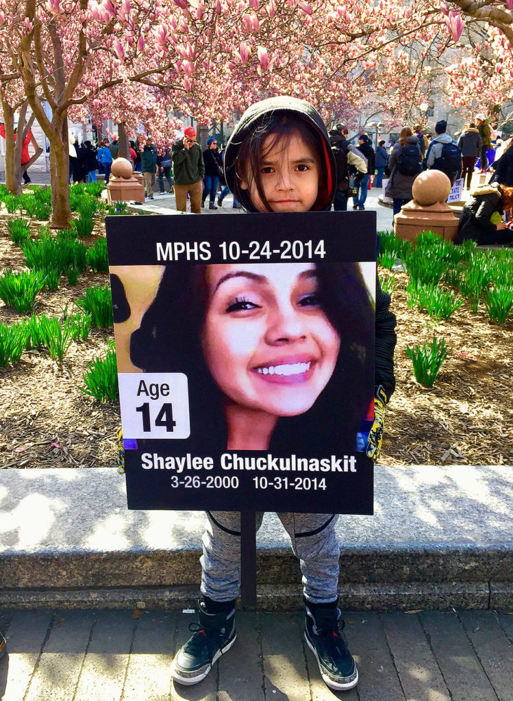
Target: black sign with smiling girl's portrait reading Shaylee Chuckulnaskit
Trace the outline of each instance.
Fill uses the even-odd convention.
[[[106,228],[128,507],[372,513],[375,214]]]

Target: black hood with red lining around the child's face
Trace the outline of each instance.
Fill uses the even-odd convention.
[[[337,180],[335,158],[331,152],[328,131],[319,112],[306,100],[298,100],[296,97],[288,97],[286,95],[269,97],[267,100],[255,102],[255,104],[246,109],[229,137],[225,149],[225,178],[227,186],[248,212],[256,211],[249,200],[248,191],[241,190],[240,186],[237,186],[240,177],[240,173],[237,172],[239,152],[246,137],[255,135],[258,138],[260,135],[261,138],[262,134],[265,134],[263,137],[265,138],[268,133],[265,130],[265,125],[272,118],[279,119],[282,115],[292,116],[297,118],[298,121],[304,122],[309,127],[312,135],[314,135],[325,177],[321,177],[319,196],[312,210],[324,210],[331,205],[331,200],[333,200],[335,194]],[[324,186],[322,186],[323,182],[325,183]]]

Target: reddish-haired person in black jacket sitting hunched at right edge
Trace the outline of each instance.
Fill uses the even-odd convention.
[[[502,215],[513,208],[513,187],[494,182],[480,185],[470,194],[461,212],[454,243],[463,243],[469,238],[481,245],[511,243],[513,231],[502,221]]]

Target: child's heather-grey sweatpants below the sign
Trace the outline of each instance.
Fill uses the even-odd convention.
[[[214,601],[231,601],[241,582],[241,517],[238,512],[207,512],[203,536],[201,593]],[[277,514],[291,538],[300,561],[305,598],[331,603],[338,595],[340,545],[335,535],[338,516],[331,514]],[[263,513],[257,512],[257,530]]]

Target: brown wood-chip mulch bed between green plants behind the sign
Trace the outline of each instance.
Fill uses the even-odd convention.
[[[0,270],[21,271],[23,254],[8,238],[0,216]],[[37,224],[32,224],[36,227]],[[100,224],[86,243],[104,235]],[[388,276],[387,270],[380,274]],[[513,320],[498,325],[484,308],[469,303],[447,321],[406,306],[406,273],[393,273],[397,315],[397,389],[387,408],[381,463],[386,465],[468,465],[513,463]],[[37,298],[38,314],[76,311],[86,287],[105,285],[108,276],[83,273],[76,287],[62,278],[56,292]],[[0,301],[0,322],[20,316]],[[406,347],[445,338],[451,349],[434,386],[415,381]],[[95,357],[103,357],[112,329],[91,329],[86,343],[72,343],[62,365],[46,351],[24,353],[14,367],[0,368],[0,467],[106,467],[115,462],[119,404],[104,403],[79,390]]]

